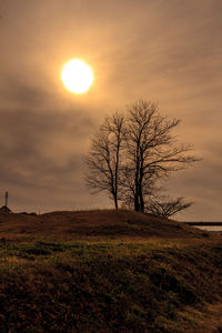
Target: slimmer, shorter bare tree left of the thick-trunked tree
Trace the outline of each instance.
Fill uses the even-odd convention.
[[[121,151],[123,149],[124,117],[107,117],[95,133],[85,163],[85,181],[92,193],[108,192],[118,209]]]

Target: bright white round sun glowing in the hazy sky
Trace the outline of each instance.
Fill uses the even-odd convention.
[[[64,64],[61,78],[64,87],[74,93],[87,92],[94,80],[92,69],[79,59]]]

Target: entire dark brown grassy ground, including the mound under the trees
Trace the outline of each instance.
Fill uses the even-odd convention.
[[[0,214],[0,332],[222,332],[222,236],[129,211]]]

